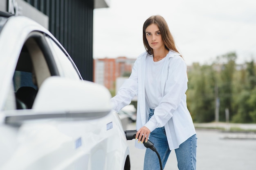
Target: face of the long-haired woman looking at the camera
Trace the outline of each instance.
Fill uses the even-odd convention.
[[[162,40],[162,35],[159,31],[159,28],[156,24],[149,25],[146,30],[146,39],[148,44],[153,50],[165,49],[164,41]]]

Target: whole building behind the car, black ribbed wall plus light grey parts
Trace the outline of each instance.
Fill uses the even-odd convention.
[[[47,28],[70,54],[83,79],[93,81],[93,10],[110,0],[0,0],[0,10],[17,13]],[[16,11],[16,12],[14,12]]]

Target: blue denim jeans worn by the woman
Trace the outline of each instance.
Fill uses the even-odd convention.
[[[148,120],[153,116],[154,110],[149,110]],[[164,168],[166,161],[171,153],[169,149],[164,127],[157,128],[150,133],[149,140],[153,142],[162,161]],[[195,170],[196,169],[196,134],[189,137],[185,142],[180,144],[180,147],[175,149],[179,170]],[[159,170],[159,159],[157,154],[147,148],[144,158],[144,170]]]

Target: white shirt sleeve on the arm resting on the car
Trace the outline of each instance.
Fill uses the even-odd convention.
[[[110,99],[112,103],[112,109],[115,111],[120,111],[126,105],[129,105],[137,95],[138,92],[138,74],[137,74],[137,61],[132,68],[132,73],[130,77],[121,85],[117,92],[117,95]]]

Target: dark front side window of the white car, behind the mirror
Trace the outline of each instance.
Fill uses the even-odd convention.
[[[50,76],[59,76],[51,50],[41,33],[25,41],[13,74],[16,109],[31,109],[38,89]]]

